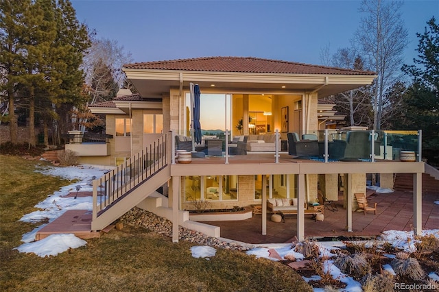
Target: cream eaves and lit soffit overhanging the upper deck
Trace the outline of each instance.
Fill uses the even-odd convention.
[[[182,90],[189,90],[191,82],[198,83],[203,93],[285,95],[316,90],[320,98],[371,84],[375,78],[375,75],[188,73],[142,69],[124,71],[142,97],[157,99],[169,94],[171,88],[180,88],[180,82]]]

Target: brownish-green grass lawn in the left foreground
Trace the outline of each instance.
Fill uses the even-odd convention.
[[[281,263],[230,250],[193,258],[193,244],[130,226],[58,256],[19,253],[13,248],[36,227],[19,219],[70,182],[35,173],[44,162],[0,162],[0,291],[312,291]]]

